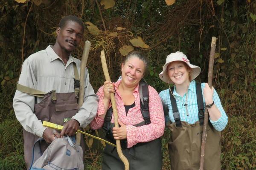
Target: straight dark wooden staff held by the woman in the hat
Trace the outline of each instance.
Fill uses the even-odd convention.
[[[216,37],[212,37],[211,52],[210,52],[210,59],[209,59],[209,69],[208,69],[208,85],[210,88],[212,88],[212,74],[213,74],[212,72],[213,72],[215,48],[216,48]],[[207,107],[205,107],[199,170],[204,170],[204,152],[205,152],[206,137],[207,137],[206,128],[208,125],[208,117],[209,117],[208,109],[207,109]]]

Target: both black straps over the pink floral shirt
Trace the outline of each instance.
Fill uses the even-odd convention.
[[[148,84],[145,82],[144,79],[140,80],[140,85],[139,85],[139,94],[140,94],[140,111],[142,113],[142,117],[145,121],[145,124],[148,125],[151,123],[150,121],[150,116],[149,116],[149,109],[148,109],[148,102],[149,102],[149,95],[148,95]],[[112,114],[113,114],[113,108],[109,108],[105,119],[104,119],[104,124],[102,126],[102,129],[105,130],[105,133],[112,133],[111,129],[111,119],[112,119]]]

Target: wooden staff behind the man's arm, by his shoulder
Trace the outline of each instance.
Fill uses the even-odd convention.
[[[83,55],[81,59],[80,64],[80,88],[79,88],[79,98],[78,98],[78,106],[81,108],[81,106],[84,103],[84,74],[85,74],[85,68],[87,64],[87,59],[90,51],[90,41],[84,42],[84,50]],[[76,144],[80,145],[81,142],[81,133],[76,133]]]

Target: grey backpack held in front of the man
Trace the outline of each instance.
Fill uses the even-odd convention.
[[[30,170],[84,170],[83,150],[69,136],[55,139],[43,154],[42,140],[38,139],[34,144]]]

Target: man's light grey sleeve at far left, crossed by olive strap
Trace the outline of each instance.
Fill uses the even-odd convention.
[[[28,59],[23,62],[19,84],[36,89],[37,82],[35,74]],[[17,120],[26,131],[42,137],[43,132],[47,127],[44,127],[41,120],[38,120],[33,113],[34,107],[35,96],[16,90],[13,98],[13,108]]]

